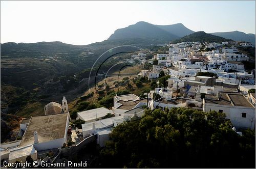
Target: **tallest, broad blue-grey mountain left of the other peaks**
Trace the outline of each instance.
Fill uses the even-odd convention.
[[[157,44],[166,43],[178,38],[179,36],[161,29],[154,24],[140,21],[136,24],[116,30],[108,40],[145,39]]]

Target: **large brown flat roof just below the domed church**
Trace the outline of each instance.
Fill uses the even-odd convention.
[[[68,113],[31,117],[19,147],[34,144],[34,131],[37,131],[39,143],[65,137],[67,120]]]

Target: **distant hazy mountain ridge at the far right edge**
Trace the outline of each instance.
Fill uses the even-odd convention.
[[[232,39],[234,41],[245,41],[245,42],[251,42],[255,45],[255,35],[254,34],[245,34],[243,32],[239,31],[233,31],[233,32],[216,32],[216,33],[209,33],[211,35],[220,36],[227,39]]]

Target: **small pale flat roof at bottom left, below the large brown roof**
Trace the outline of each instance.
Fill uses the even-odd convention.
[[[18,148],[18,149],[10,151],[9,161],[16,159],[16,158],[35,154],[35,153],[37,153],[37,151],[35,150],[33,145],[28,145],[26,147]],[[25,161],[22,161],[22,162],[25,162]]]

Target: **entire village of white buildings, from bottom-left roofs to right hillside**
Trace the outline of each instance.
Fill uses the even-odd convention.
[[[242,63],[249,57],[234,46],[227,48],[225,45],[228,42],[182,42],[170,44],[166,53],[158,53],[150,60],[146,60],[144,53],[133,55],[130,62],[138,60],[141,64],[152,64],[151,70],[141,70],[138,76],[155,80],[159,85],[159,75],[164,73],[169,76],[166,86],[145,93],[145,98],[134,94],[116,95],[111,109],[100,107],[78,112],[76,120],[84,121],[81,129],[70,124],[72,120],[65,97],[62,104],[50,102],[44,107],[45,115],[33,116],[20,123],[18,136],[21,139],[1,144],[1,160],[25,162],[30,155],[39,162],[52,162],[49,154],[55,159],[54,156],[66,149],[71,140],[72,146],[79,146],[91,136],[96,136],[97,144],[104,146],[115,126],[142,118],[145,108],[215,110],[225,113],[238,131],[255,129],[255,93],[251,92],[255,89],[254,74],[246,72]]]

